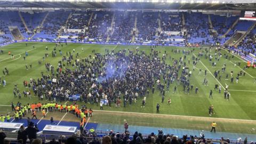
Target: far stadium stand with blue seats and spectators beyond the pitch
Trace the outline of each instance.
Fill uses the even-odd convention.
[[[70,12],[72,14],[68,19]],[[223,44],[235,31],[246,31],[253,25],[251,21],[238,21],[237,25],[225,35],[238,16],[226,17],[210,14],[211,29],[208,14],[201,12],[182,12],[185,15],[185,26],[182,25],[181,12],[58,10],[50,12],[48,16],[47,12],[20,13],[29,31],[19,18],[18,11],[1,12],[1,30],[4,32],[1,42],[4,39],[6,41],[13,39],[7,26],[17,26],[24,38],[30,38],[35,33],[33,39],[59,38],[65,41],[162,44],[215,44],[218,42]],[[111,21],[113,21],[112,24]],[[62,30],[60,37],[58,37],[59,30]]]

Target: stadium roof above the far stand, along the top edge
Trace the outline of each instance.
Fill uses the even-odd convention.
[[[16,0],[1,1],[1,9],[153,9],[153,10],[256,10],[256,0]]]

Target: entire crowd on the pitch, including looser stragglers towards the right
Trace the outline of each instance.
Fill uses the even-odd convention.
[[[57,47],[60,47],[60,43],[56,43],[53,48],[52,57],[55,57],[54,55],[57,54]],[[173,93],[177,92],[178,85],[182,85],[184,93],[189,94],[194,90],[195,94],[197,94],[199,91],[198,86],[195,86],[194,89],[194,84],[190,82],[189,78],[191,74],[194,73],[195,69],[197,69],[196,65],[199,60],[202,58],[208,59],[212,67],[215,67],[222,58],[220,49],[213,46],[205,49],[200,47],[197,56],[194,54],[195,49],[188,51],[172,49],[171,52],[173,54],[182,52],[183,57],[179,59],[172,58],[172,54],[166,51],[161,53],[161,51],[155,50],[158,45],[150,47],[150,54],[146,54],[144,51],[138,49],[134,51],[128,50],[128,55],[125,54],[126,49],[118,52],[106,49],[106,54],[96,53],[95,50],[92,50],[94,55],[89,55],[89,57],[84,59],[79,59],[79,53],[75,53],[75,49],[73,49],[73,52],[67,51],[66,55],[61,54],[62,59],[58,62],[57,68],[54,68],[51,63],[45,63],[47,74],[42,72],[41,78],[30,78],[29,82],[23,81],[23,85],[26,89],[28,88],[28,90],[23,91],[24,97],[29,96],[31,99],[30,91],[33,91],[35,97],[38,97],[39,100],[45,99],[48,101],[62,102],[68,101],[70,95],[79,94],[79,101],[97,104],[97,106],[98,103],[100,103],[101,109],[103,105],[101,100],[107,101],[107,104],[104,104],[109,107],[111,107],[111,103],[114,103],[115,107],[120,107],[122,101],[123,106],[126,107],[127,105],[132,105],[132,103],[136,103],[138,98],[142,98],[141,107],[143,108],[145,107],[149,90],[154,94],[155,84],[157,90],[160,91],[159,95],[161,95],[162,103],[164,103],[165,100],[165,92],[169,92],[170,84],[174,82],[176,82],[177,85],[174,84]],[[50,48],[46,46],[46,51],[48,50],[50,50]],[[212,51],[214,51],[214,54],[211,54]],[[187,57],[192,53],[194,55],[192,55],[192,59],[190,60]],[[74,58],[74,55],[76,58]],[[162,55],[162,58],[159,57],[160,55]],[[231,54],[225,54],[224,56],[224,58],[229,60],[234,58],[234,55]],[[45,59],[45,57],[43,57],[43,59]],[[171,60],[172,65],[165,63],[166,59]],[[39,63],[39,65],[41,65],[41,63]],[[66,67],[69,65],[72,66],[73,69]],[[240,65],[240,63],[237,63],[237,65]],[[193,69],[189,69],[188,66],[193,66]],[[246,68],[244,68],[244,70]],[[5,67],[5,71],[6,69]],[[198,75],[203,75],[202,69],[198,70]],[[179,71],[181,71],[180,76],[178,75]],[[226,71],[226,64],[222,66],[221,70],[214,71],[214,77],[221,81],[222,73],[226,73],[225,80],[228,80],[230,77],[230,84],[234,84],[234,71],[231,71],[229,75]],[[203,85],[208,85],[206,75],[207,70],[205,69]],[[235,78],[236,83],[238,83],[238,79],[241,76],[245,76],[245,71],[241,70],[237,73]],[[55,81],[53,81],[53,79],[55,79]],[[231,95],[228,91],[228,86],[229,85],[226,84],[224,91],[224,98],[227,100],[229,100]],[[221,89],[221,85],[215,84],[214,90],[218,90],[219,93],[221,93]],[[21,92],[15,84],[13,90],[14,97],[17,97],[17,93],[19,99],[21,99]],[[213,98],[212,90],[210,91],[209,97]],[[167,103],[171,104],[170,97]],[[39,105],[41,105],[41,103],[39,103]],[[49,103],[42,105],[42,107],[46,106],[47,109],[50,108],[49,110],[51,110]],[[55,104],[52,107],[55,108]],[[66,110],[68,107],[69,106],[66,105],[60,105],[60,110]],[[157,113],[159,113],[159,108],[160,105],[158,104],[156,106]],[[75,107],[71,109],[75,110]],[[213,106],[210,106],[209,115],[213,113]]]

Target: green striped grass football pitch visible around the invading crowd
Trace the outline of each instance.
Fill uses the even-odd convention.
[[[33,46],[35,46],[35,49],[33,49]],[[48,47],[48,51],[46,51],[45,47]],[[44,72],[46,74],[45,69],[45,62],[50,62],[51,65],[57,67],[58,61],[61,60],[61,55],[59,54],[59,47],[57,47],[57,57],[52,58],[51,52],[53,50],[53,47],[55,46],[54,43],[28,43],[28,46],[25,45],[25,43],[16,43],[11,44],[8,46],[1,47],[2,50],[4,50],[4,54],[0,55],[0,70],[2,77],[1,79],[5,79],[7,85],[3,87],[3,85],[0,85],[0,114],[5,115],[10,112],[10,107],[6,107],[3,105],[10,105],[11,102],[17,103],[17,101],[20,101],[23,104],[25,103],[33,103],[38,102],[37,97],[33,97],[31,100],[28,98],[24,98],[22,94],[21,100],[18,98],[14,98],[13,96],[13,88],[14,84],[18,85],[18,89],[20,89],[21,92],[24,90],[27,90],[28,88],[23,86],[23,81],[27,80],[29,81],[30,78],[40,78],[41,72]],[[83,51],[82,51],[83,47]],[[60,46],[60,49],[62,51],[62,55],[66,55],[66,52],[73,53],[73,49],[75,49],[75,53],[79,53],[80,58],[85,58],[89,55],[93,55],[92,50],[95,50],[99,53],[105,53],[105,49],[109,50],[123,50],[123,49],[130,49],[135,50],[135,47],[137,46],[121,46],[121,45],[84,45],[84,44],[68,44],[67,46],[63,44],[63,47]],[[181,50],[180,53],[174,54],[171,51],[172,50]],[[161,51],[161,54],[159,54],[159,57],[162,57],[162,54],[164,51],[167,52],[167,54],[171,55],[171,58],[179,59],[180,57],[183,57],[182,50],[188,50],[189,48],[185,47],[157,47],[155,50]],[[146,53],[150,53],[150,47],[149,46],[139,46],[140,51],[145,51]],[[190,50],[192,50],[190,48]],[[14,58],[12,59],[10,55],[8,55],[8,51],[11,51],[11,53],[14,55]],[[28,52],[28,57],[26,57],[26,60],[23,60],[23,55],[25,55],[25,52]],[[195,51],[193,52],[195,55],[198,54],[199,48],[195,48]],[[217,67],[212,67],[209,60],[205,60],[204,57],[201,58],[201,62],[199,62],[196,65],[195,71],[192,71],[192,75],[190,78],[190,84],[194,85],[193,91],[190,91],[189,94],[184,93],[183,86],[177,85],[177,82],[174,82],[170,85],[170,91],[165,93],[165,101],[164,103],[161,103],[162,97],[160,96],[159,91],[155,91],[154,94],[151,93],[147,97],[146,100],[146,106],[145,108],[141,108],[141,98],[138,100],[137,103],[133,103],[131,106],[127,105],[126,108],[123,107],[123,103],[121,103],[121,108],[115,108],[114,103],[112,104],[112,107],[109,108],[107,106],[103,107],[104,110],[109,111],[127,111],[127,112],[134,112],[133,114],[129,115],[125,113],[122,114],[113,114],[116,115],[115,118],[111,116],[111,114],[106,115],[103,111],[95,111],[95,117],[93,119],[93,122],[99,122],[99,123],[123,123],[123,119],[129,119],[130,118],[130,124],[133,125],[151,125],[151,126],[162,126],[162,127],[175,127],[175,128],[184,128],[184,129],[207,129],[209,127],[210,122],[213,120],[211,118],[229,118],[229,119],[214,119],[215,121],[219,122],[220,131],[229,131],[229,132],[244,132],[244,133],[255,133],[254,131],[251,131],[252,128],[255,127],[255,121],[239,121],[236,122],[233,119],[249,119],[249,120],[256,120],[256,84],[254,83],[256,78],[256,69],[247,69],[245,76],[242,76],[239,78],[238,84],[236,84],[234,80],[234,84],[230,84],[230,79],[225,80],[226,73],[229,74],[230,78],[230,71],[234,71],[234,78],[236,77],[236,74],[243,69],[243,67],[246,65],[244,61],[241,59],[234,57],[234,59],[226,60],[223,55],[226,53],[225,50],[222,50],[222,58],[220,61],[217,61]],[[43,56],[45,53],[49,53],[49,57],[45,58],[43,61]],[[192,63],[191,57],[193,56],[193,53],[190,53],[190,55],[187,55],[186,63],[189,66],[189,68],[192,70],[193,66],[188,64],[188,59],[190,59],[190,63]],[[214,50],[211,52],[214,55]],[[228,54],[231,55],[231,54]],[[41,60],[42,64],[38,65],[38,61]],[[172,59],[169,59],[167,57],[166,63],[169,63],[172,65]],[[241,66],[234,66],[234,63],[241,62]],[[215,70],[221,70],[221,67],[226,63],[227,69],[226,73],[221,73],[222,78],[221,81],[218,81],[218,79],[215,79],[212,75]],[[32,68],[26,70],[26,64],[29,66],[29,64],[32,65]],[[3,76],[2,70],[4,67],[7,67],[9,69],[9,76]],[[71,66],[70,66],[71,68]],[[202,75],[198,75],[198,69],[202,69]],[[208,79],[209,85],[203,85],[204,80],[204,70],[207,70],[206,78]],[[1,83],[2,84],[2,83]],[[229,91],[231,94],[230,100],[227,101],[224,99],[223,95],[223,87],[221,90],[221,93],[219,94],[218,91],[213,90],[214,85],[218,84],[223,87],[229,85]],[[177,93],[172,93],[173,87],[177,85]],[[195,87],[198,87],[199,92],[195,94]],[[210,90],[213,90],[213,99],[209,98]],[[34,94],[32,94],[34,95]],[[167,104],[167,99],[171,98],[171,105]],[[44,103],[45,101],[43,101]],[[65,103],[65,102],[63,102]],[[82,104],[82,102],[80,102]],[[157,103],[160,103],[160,114],[166,114],[166,115],[182,115],[182,116],[196,116],[196,117],[167,117],[164,115],[150,115],[156,113],[156,105]],[[214,105],[215,115],[209,116],[208,114],[208,108],[209,106]],[[99,110],[99,106],[86,104],[87,107],[91,107],[95,110]],[[140,115],[136,113],[149,113],[148,115]],[[105,119],[103,121],[102,118],[100,118],[102,115],[106,115]],[[97,119],[98,116],[98,119]],[[129,116],[129,117],[128,117]],[[61,116],[60,116],[61,117]],[[199,118],[198,118],[199,117]],[[200,118],[204,117],[204,118]],[[169,120],[172,121],[175,125],[170,125]],[[159,122],[161,124],[159,124]]]

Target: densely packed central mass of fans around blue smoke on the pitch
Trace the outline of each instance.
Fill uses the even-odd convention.
[[[46,71],[51,75],[42,73],[41,78],[24,81],[24,86],[29,88],[28,93],[30,90],[33,91],[38,99],[64,101],[69,99],[69,95],[79,94],[81,101],[98,105],[103,99],[108,101],[110,107],[111,103],[120,107],[121,100],[124,107],[128,103],[132,105],[138,98],[148,95],[147,88],[154,93],[156,80],[156,87],[161,90],[163,97],[165,84],[169,89],[170,83],[177,78],[180,83],[190,86],[187,76],[189,69],[182,59],[173,59],[173,65],[167,65],[165,59],[171,57],[167,57],[166,52],[163,53],[162,59],[158,57],[162,53],[153,49],[150,55],[130,50],[128,50],[129,55],[125,55],[125,52],[124,50],[114,53],[106,50],[106,54],[94,53],[95,57],[90,55],[79,61],[74,60],[75,55],[76,57],[78,55],[75,50],[67,52],[57,67],[45,63]],[[74,63],[71,62],[73,60]],[[66,66],[69,65],[75,69],[67,68]],[[179,70],[182,71],[180,77],[178,77]],[[53,78],[57,80],[53,82]],[[162,78],[164,82],[160,81]],[[144,99],[146,101],[146,98]]]

